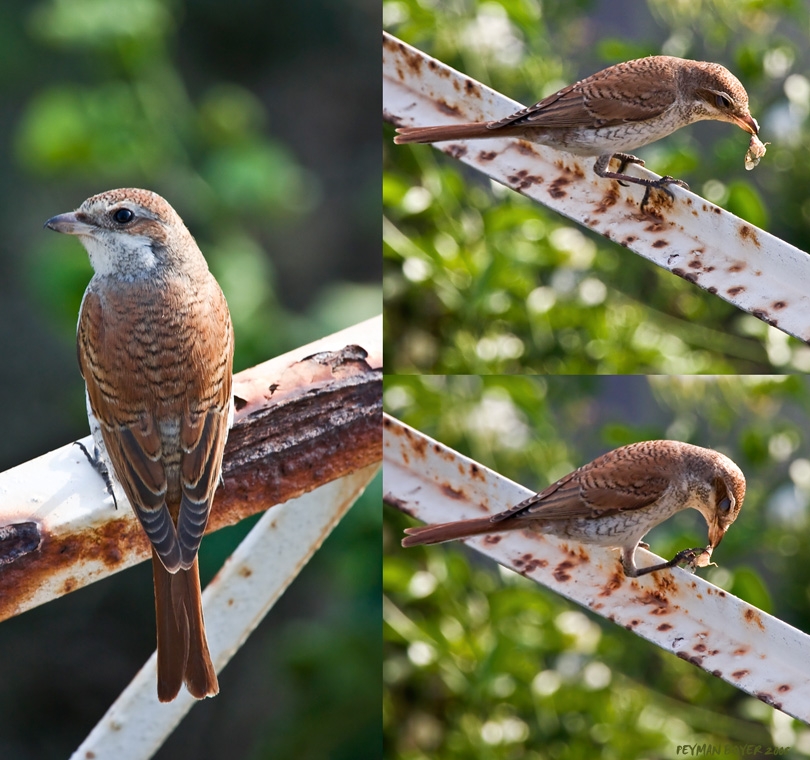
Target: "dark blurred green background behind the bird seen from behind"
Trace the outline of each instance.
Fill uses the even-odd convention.
[[[380,312],[379,23],[371,0],[2,4],[0,470],[88,432],[91,269],[42,225],[90,195],[174,206],[227,296],[237,371]],[[379,491],[157,757],[379,751]],[[204,583],[248,528],[205,540]],[[148,564],[0,624],[0,757],[69,756],[154,640]]]

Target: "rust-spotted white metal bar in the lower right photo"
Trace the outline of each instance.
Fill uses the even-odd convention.
[[[384,415],[383,493],[385,503],[438,523],[499,512],[532,492]],[[627,578],[610,549],[527,532],[465,543],[747,694],[810,722],[810,636],[699,576],[675,568]],[[636,558],[640,566],[663,561],[644,549],[636,550]]]

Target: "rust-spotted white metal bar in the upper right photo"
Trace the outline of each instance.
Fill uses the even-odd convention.
[[[397,126],[499,119],[523,108],[383,33],[383,118]],[[747,136],[740,132],[740,163]],[[810,256],[680,187],[675,198],[598,177],[593,159],[514,138],[456,140],[438,149],[604,235],[658,266],[810,340]],[[393,148],[392,148],[393,149]],[[399,148],[397,148],[399,149]],[[640,176],[657,175],[632,167]]]

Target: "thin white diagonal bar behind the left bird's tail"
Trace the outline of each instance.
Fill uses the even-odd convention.
[[[203,593],[217,671],[228,663],[379,469],[371,465],[265,512]],[[196,704],[185,689],[157,699],[153,654],[73,753],[74,760],[145,760]]]

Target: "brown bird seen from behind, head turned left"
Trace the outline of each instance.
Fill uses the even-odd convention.
[[[177,212],[149,190],[94,195],[45,226],[75,235],[94,274],[77,327],[94,452],[152,546],[157,693],[219,691],[198,549],[233,421],[234,335],[225,296]]]

